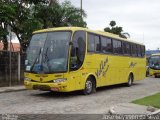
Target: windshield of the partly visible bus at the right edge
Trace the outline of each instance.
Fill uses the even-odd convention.
[[[160,56],[151,56],[149,66],[153,69],[160,69]]]

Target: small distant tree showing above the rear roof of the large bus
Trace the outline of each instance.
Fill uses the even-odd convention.
[[[109,27],[104,28],[105,32],[113,33],[123,38],[127,38],[127,36],[130,37],[129,33],[123,33],[123,27],[116,26],[115,21],[111,21],[109,25]]]

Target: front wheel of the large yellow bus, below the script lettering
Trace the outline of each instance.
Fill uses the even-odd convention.
[[[96,83],[93,77],[88,77],[83,90],[84,95],[89,95],[96,92]]]

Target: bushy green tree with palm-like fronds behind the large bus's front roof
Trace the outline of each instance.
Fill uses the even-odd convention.
[[[65,1],[62,4],[40,4],[35,6],[35,16],[43,23],[43,28],[78,26],[86,27],[86,22],[81,17],[81,10],[74,7],[71,2]],[[86,17],[83,11],[83,16]]]

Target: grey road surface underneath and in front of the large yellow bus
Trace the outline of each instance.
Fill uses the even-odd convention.
[[[95,94],[19,91],[0,94],[0,114],[105,114],[118,103],[128,103],[160,92],[160,78],[146,78],[131,87],[99,88]]]

